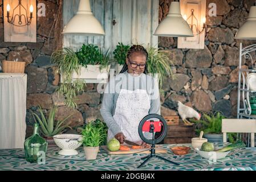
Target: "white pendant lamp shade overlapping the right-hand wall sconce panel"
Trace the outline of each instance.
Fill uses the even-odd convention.
[[[194,36],[189,24],[182,18],[179,2],[170,4],[169,14],[156,28],[154,35],[171,37]]]

